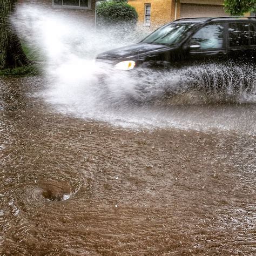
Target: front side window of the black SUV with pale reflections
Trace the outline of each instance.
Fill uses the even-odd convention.
[[[214,49],[223,47],[223,24],[210,24],[199,29],[192,37],[191,43],[199,43],[200,49]]]

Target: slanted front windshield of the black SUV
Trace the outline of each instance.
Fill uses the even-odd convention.
[[[148,44],[174,45],[179,43],[194,23],[171,23],[154,31],[142,42]]]

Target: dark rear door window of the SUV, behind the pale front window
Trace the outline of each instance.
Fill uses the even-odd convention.
[[[228,24],[228,37],[231,47],[250,45],[249,26],[248,23]]]

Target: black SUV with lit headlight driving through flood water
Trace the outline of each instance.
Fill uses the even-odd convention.
[[[225,60],[254,65],[255,52],[255,17],[182,18],[138,44],[103,52],[96,60],[119,70],[180,68]]]

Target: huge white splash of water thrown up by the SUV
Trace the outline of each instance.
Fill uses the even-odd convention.
[[[48,83],[41,96],[56,111],[125,127],[234,129],[241,112],[254,110],[253,66],[116,72],[93,59],[102,51],[139,42],[146,32],[95,31],[75,16],[30,5],[18,6],[12,21],[42,53]],[[231,103],[235,106],[226,105]],[[249,121],[247,130],[252,129]]]

